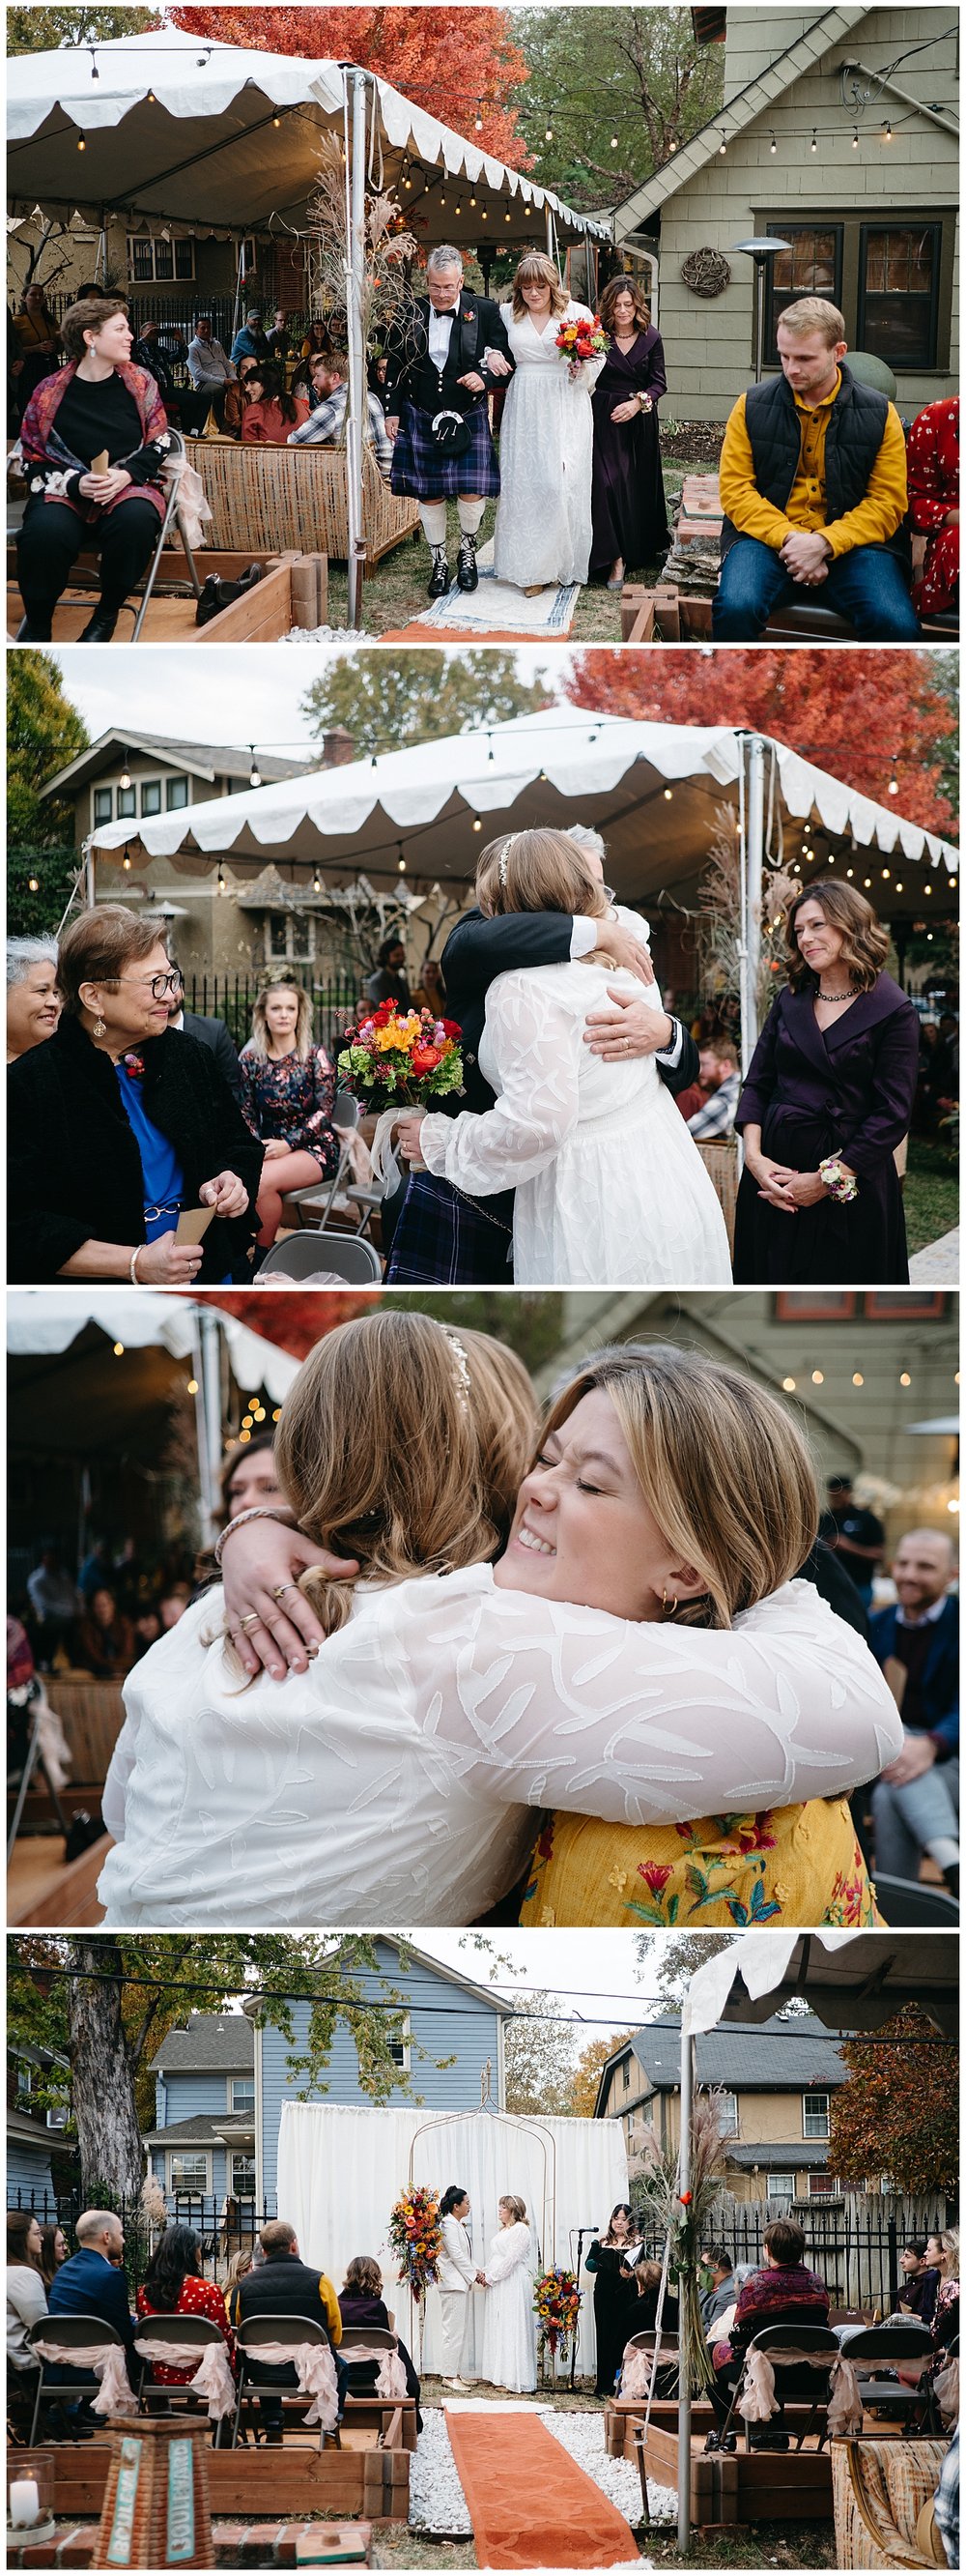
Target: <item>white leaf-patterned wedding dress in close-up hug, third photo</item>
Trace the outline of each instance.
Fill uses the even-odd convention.
[[[806,1582],[726,1633],[507,1592],[492,1566],[363,1582],[309,1672],[247,1690],[222,1620],[209,1592],[124,1685],[111,1929],[464,1927],[515,1886],[533,1806],[786,1806],[873,1780],[902,1744],[876,1659]]]

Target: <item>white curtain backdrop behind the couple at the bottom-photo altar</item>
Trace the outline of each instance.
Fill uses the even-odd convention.
[[[428,2125],[430,2123],[430,2125]],[[420,2130],[420,2136],[417,2136]],[[574,2267],[577,2228],[605,2226],[626,2200],[626,2148],[618,2120],[518,2120],[489,2110],[435,2120],[428,2110],[348,2110],[335,2102],[286,2102],[278,2130],[278,2218],[291,2218],[304,2262],[343,2287],[353,2254],[374,2254],[397,2329],[422,2370],[440,2362],[440,2303],[430,2290],[422,2318],[394,2277],[386,2233],[392,2208],[410,2182],[469,2192],[469,2233],[479,2269],[497,2233],[502,2192],[518,2192],[536,2233],[541,2267]],[[556,2164],[556,2177],[554,2177]],[[556,2208],[554,2208],[556,2195]],[[590,2236],[585,2233],[587,2251]],[[582,2277],[577,2370],[595,2367],[592,2275]],[[469,2293],[464,2378],[477,2372],[484,2290]]]

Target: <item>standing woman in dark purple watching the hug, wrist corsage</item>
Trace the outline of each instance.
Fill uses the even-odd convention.
[[[788,984],[773,1002],[734,1126],[739,1288],[878,1288],[909,1280],[896,1146],[909,1131],[920,1023],[889,938],[855,886],[796,894]]]

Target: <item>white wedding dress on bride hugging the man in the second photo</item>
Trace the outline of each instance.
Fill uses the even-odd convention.
[[[719,1195],[654,1056],[585,1046],[608,984],[662,1010],[613,966],[528,966],[487,992],[479,1072],[495,1108],[422,1121],[430,1172],[469,1198],[515,1190],[518,1288],[729,1288]]]

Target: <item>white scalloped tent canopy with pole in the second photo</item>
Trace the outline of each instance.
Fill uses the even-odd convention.
[[[309,770],[247,796],[206,799],[134,832],[124,822],[103,824],[88,842],[93,858],[108,860],[129,850],[131,876],[152,858],[196,868],[198,855],[232,860],[240,878],[258,876],[268,853],[299,871],[327,866],[355,878],[399,884],[399,858],[407,886],[469,884],[484,840],[520,832],[531,824],[592,822],[608,842],[608,876],[623,902],[698,909],[701,876],[716,837],[716,817],[729,804],[739,819],[747,966],[744,966],[744,1061],[755,1043],[757,922],[765,858],[801,850],[801,824],[809,819],[829,842],[842,842],[835,863],[855,884],[868,884],[871,899],[886,914],[922,904],[922,886],[909,889],[899,866],[956,876],[956,850],[922,824],[907,822],[891,806],[873,804],[786,742],[742,734],[737,726],[634,724],[623,716],[592,716],[574,706],[549,706],[513,724],[420,742],[404,752]],[[866,855],[866,868],[860,866]],[[801,855],[809,881],[829,860],[829,848]],[[121,894],[126,878],[103,866],[95,884],[88,868],[88,896]],[[240,884],[240,891],[247,891]]]

